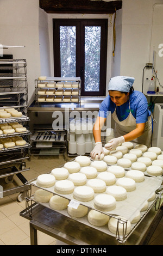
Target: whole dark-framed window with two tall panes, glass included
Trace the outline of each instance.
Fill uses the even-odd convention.
[[[53,19],[54,76],[80,77],[82,96],[105,96],[108,20]]]

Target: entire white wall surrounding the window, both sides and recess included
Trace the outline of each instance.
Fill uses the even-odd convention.
[[[135,77],[134,88],[141,91],[143,68],[147,62],[152,62],[149,52],[155,44],[153,39],[151,40],[151,29],[153,6],[156,3],[163,3],[163,0],[123,0],[122,9],[118,10],[116,15],[116,47],[113,57],[114,15],[47,14],[39,8],[39,0],[1,0],[0,44],[26,46],[26,48],[4,50],[4,54],[12,53],[14,58],[27,59],[29,103],[34,100],[35,78],[39,75],[54,76],[53,18],[108,19],[106,88],[110,77],[127,75]],[[159,33],[160,43],[163,43],[162,33],[159,32],[159,29],[162,29],[162,19],[159,20],[159,26],[156,24],[152,31],[155,39],[158,38]],[[159,66],[162,61],[163,57],[159,62],[157,60]],[[162,72],[158,66],[156,69],[162,82]],[[149,74],[151,70],[146,70],[145,78]]]

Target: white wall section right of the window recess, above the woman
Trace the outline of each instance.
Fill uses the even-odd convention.
[[[140,91],[143,68],[146,63],[152,62],[153,57],[152,55],[149,57],[149,52],[151,51],[152,11],[156,2],[163,3],[163,1],[154,0],[123,0],[122,5],[120,74],[135,77],[134,88]],[[159,33],[161,33],[159,28],[155,27],[155,39]],[[145,70],[145,78],[151,75],[152,70]]]

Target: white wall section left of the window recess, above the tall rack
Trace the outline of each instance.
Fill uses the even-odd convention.
[[[28,98],[32,102],[34,80],[40,75],[39,0],[0,1],[0,44],[26,46],[3,50],[3,54],[27,59]]]

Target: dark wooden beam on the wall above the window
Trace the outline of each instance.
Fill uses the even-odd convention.
[[[122,1],[103,0],[40,0],[46,13],[108,14],[122,8]]]

